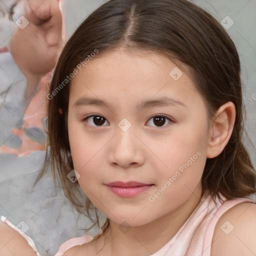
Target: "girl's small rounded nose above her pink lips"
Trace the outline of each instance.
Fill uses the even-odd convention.
[[[123,168],[141,166],[145,156],[144,145],[140,139],[131,127],[126,131],[117,127],[116,134],[108,147],[109,163]]]

